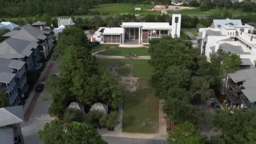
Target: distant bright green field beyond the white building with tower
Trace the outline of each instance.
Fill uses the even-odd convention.
[[[129,4],[129,3],[111,3],[104,5],[97,5],[95,8],[91,8],[92,12],[99,12],[103,15],[119,15],[121,13],[130,14],[160,14],[160,11],[147,11],[148,8],[154,8],[155,5],[144,5],[144,4]],[[141,8],[141,11],[135,11],[135,8]]]

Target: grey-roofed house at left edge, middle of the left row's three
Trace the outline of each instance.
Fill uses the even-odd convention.
[[[0,58],[24,61],[27,70],[33,69],[40,59],[38,44],[9,37],[0,43]]]

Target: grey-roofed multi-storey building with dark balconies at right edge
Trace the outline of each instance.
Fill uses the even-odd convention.
[[[243,69],[229,73],[225,102],[229,108],[256,108],[256,69]]]

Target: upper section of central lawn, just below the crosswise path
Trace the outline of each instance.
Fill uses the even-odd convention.
[[[97,59],[99,74],[103,74],[111,65],[131,64],[133,77],[150,78],[154,71],[147,59]],[[125,74],[124,74],[125,75]]]

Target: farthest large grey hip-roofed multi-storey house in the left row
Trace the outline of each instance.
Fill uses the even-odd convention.
[[[53,48],[53,37],[51,30],[40,30],[36,27],[30,26],[29,24],[20,27],[19,30],[8,32],[3,35],[3,37],[10,37],[13,39],[37,43],[40,56],[44,59],[47,59],[47,56],[51,52],[51,48]]]

